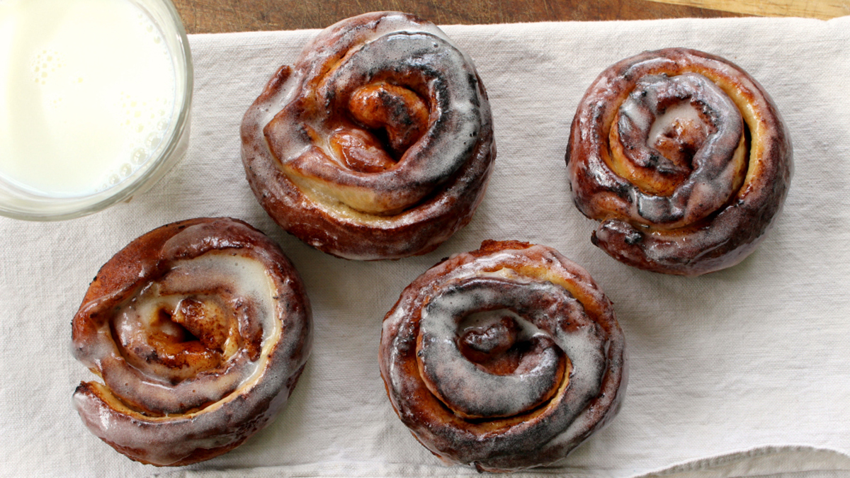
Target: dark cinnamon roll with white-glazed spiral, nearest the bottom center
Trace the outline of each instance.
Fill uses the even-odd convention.
[[[615,416],[625,343],[609,299],[552,248],[485,241],[445,259],[384,318],[381,375],[448,464],[553,464]]]

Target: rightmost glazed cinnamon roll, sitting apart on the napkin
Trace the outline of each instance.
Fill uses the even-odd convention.
[[[697,276],[762,241],[791,182],[791,139],[740,67],[699,51],[644,52],[581,100],[567,167],[575,205],[615,259]]]

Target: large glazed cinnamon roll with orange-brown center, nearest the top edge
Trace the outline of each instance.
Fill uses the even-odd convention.
[[[248,109],[241,141],[272,219],[346,259],[437,248],[472,219],[496,156],[472,60],[397,12],[321,31]]]

